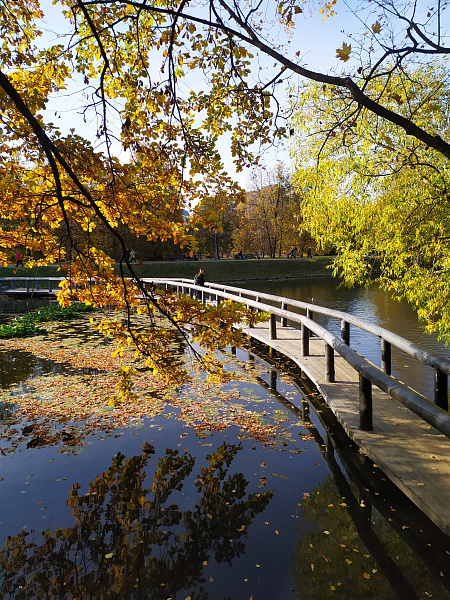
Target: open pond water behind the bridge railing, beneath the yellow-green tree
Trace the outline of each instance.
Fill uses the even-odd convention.
[[[375,286],[369,288],[337,287],[336,280],[324,277],[291,280],[283,283],[280,281],[248,282],[246,287],[348,312],[393,331],[432,354],[450,358],[450,350],[445,347],[443,342],[437,340],[436,335],[429,335],[423,331],[414,311],[406,302],[393,300],[388,292]],[[317,315],[315,320],[340,337],[341,323],[339,320],[320,315]],[[380,367],[381,340],[379,338],[351,326],[350,346]],[[432,398],[433,369],[419,365],[396,348],[392,348],[392,375],[428,398]]]

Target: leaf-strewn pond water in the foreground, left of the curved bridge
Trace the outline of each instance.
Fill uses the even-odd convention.
[[[2,343],[1,598],[450,598],[448,538],[315,390],[264,349],[221,356],[239,379],[136,365],[117,405],[87,320]]]

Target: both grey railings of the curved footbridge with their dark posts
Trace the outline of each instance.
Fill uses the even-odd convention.
[[[199,294],[202,301],[208,299],[219,304],[222,300],[229,299],[236,302],[243,302],[253,310],[267,312],[270,314],[269,331],[270,339],[272,340],[277,338],[278,326],[286,327],[289,322],[297,323],[301,328],[300,357],[309,355],[311,332],[323,339],[325,342],[325,380],[327,382],[333,383],[335,381],[335,352],[338,352],[359,374],[361,429],[372,429],[372,385],[375,385],[438,429],[441,433],[450,437],[450,415],[448,413],[449,360],[435,356],[383,327],[368,323],[349,313],[325,308],[316,304],[215,283],[196,286],[191,279],[148,279],[144,281],[164,285],[165,287],[171,286],[178,293]],[[271,304],[266,302],[270,302]],[[289,308],[302,310],[305,314],[293,312],[292,310],[288,310]],[[336,337],[331,331],[316,323],[314,321],[315,314],[340,320],[341,337]],[[380,338],[381,369],[350,348],[350,325]],[[392,346],[402,350],[408,356],[418,360],[422,364],[434,368],[435,386],[433,401],[391,376]],[[290,358],[295,359],[295,356],[290,356]]]

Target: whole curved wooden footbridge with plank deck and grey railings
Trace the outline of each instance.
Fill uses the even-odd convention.
[[[450,534],[449,360],[382,327],[315,304],[214,283],[196,286],[191,279],[144,282],[199,293],[204,302],[234,300],[269,313],[266,323],[239,327],[297,363],[361,450]],[[340,321],[340,338],[314,321],[317,314]],[[380,338],[381,369],[351,348],[350,326]],[[391,375],[392,346],[434,368],[433,398]]]

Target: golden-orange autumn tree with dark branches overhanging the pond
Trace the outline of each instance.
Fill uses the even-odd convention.
[[[121,228],[195,249],[189,230],[170,215],[212,206],[194,212],[190,225],[201,219],[217,227],[224,198],[241,194],[224,171],[219,141],[228,140],[239,170],[258,162],[258,153],[251,152],[259,147],[255,143],[291,133],[276,95],[292,74],[337,90],[340,123],[350,126],[369,111],[448,159],[450,146],[434,121],[417,121],[413,111],[399,110],[388,85],[377,83],[403,72],[417,55],[448,52],[445,5],[422,18],[415,3],[398,10],[390,2],[367,3],[358,17],[364,27],[361,44],[368,45],[354,60],[357,32],[353,49],[349,40],[342,41],[337,55],[351,66],[336,76],[308,69],[301,49],[289,44],[294,26],[304,24],[304,6],[297,0],[63,0],[48,14],[53,21],[62,10],[55,19],[61,30],[45,36],[37,1],[2,2],[0,258],[6,261],[11,248],[26,247],[39,251],[41,262],[66,261],[71,285],[63,289],[61,302],[78,298],[127,310],[125,324],[105,322],[104,330],[115,333],[122,346],[134,343],[149,365],[167,376],[177,371],[159,314],[177,327],[190,323],[194,337],[209,347],[218,339],[238,342],[232,324],[251,318],[242,307],[199,312],[186,298],[146,291],[128,261]],[[339,0],[333,0],[313,11],[331,19],[338,7]],[[276,39],[276,28],[286,34],[284,47],[268,41]],[[265,60],[258,69],[258,56],[270,63]],[[65,96],[76,93],[74,127],[60,131],[48,109],[54,110],[59,98],[64,110]],[[77,119],[90,123],[92,139],[81,137]],[[118,148],[126,160],[119,160]],[[100,225],[117,239],[117,276],[111,256],[93,243]],[[86,285],[91,278],[93,287]],[[150,317],[145,331],[131,326],[134,308]],[[206,329],[196,328],[200,321]]]

